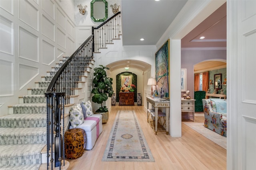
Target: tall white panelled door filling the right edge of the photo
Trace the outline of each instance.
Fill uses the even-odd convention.
[[[227,169],[256,169],[256,0],[227,1]]]

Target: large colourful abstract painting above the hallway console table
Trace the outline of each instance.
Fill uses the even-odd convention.
[[[169,98],[169,44],[168,39],[156,52],[156,88],[158,96]]]

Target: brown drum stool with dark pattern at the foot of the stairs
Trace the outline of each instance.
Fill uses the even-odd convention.
[[[76,159],[84,154],[86,134],[83,129],[74,128],[66,131],[64,135],[65,156],[67,159]]]

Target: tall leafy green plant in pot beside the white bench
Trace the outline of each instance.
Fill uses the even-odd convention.
[[[92,102],[101,104],[101,107],[96,110],[96,114],[102,114],[102,123],[107,123],[108,121],[108,108],[106,106],[102,106],[102,103],[108,100],[108,97],[114,94],[114,90],[112,88],[112,80],[113,78],[107,77],[107,73],[105,67],[103,65],[99,65],[100,67],[94,68],[94,79],[92,82],[94,83],[94,88],[92,89]]]

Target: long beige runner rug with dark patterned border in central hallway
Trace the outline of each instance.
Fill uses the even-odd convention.
[[[118,111],[102,161],[155,162],[135,111]]]

